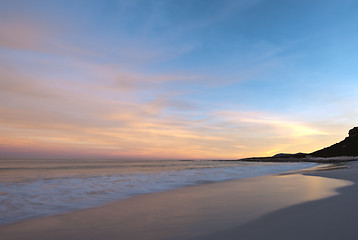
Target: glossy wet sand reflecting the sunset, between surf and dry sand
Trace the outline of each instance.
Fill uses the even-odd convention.
[[[201,239],[280,209],[335,196],[336,188],[352,184],[310,171],[318,176],[292,172],[136,196],[0,226],[0,235],[2,239]],[[312,182],[320,189],[313,191]]]

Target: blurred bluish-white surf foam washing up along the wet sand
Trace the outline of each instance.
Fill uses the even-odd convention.
[[[165,163],[166,166],[171,166],[171,164],[173,162],[168,161]],[[177,164],[177,162],[174,162],[174,164]],[[156,166],[155,164],[153,165]],[[90,209],[142,194],[166,192],[204,183],[278,174],[316,165],[312,163],[205,162],[199,165],[197,163],[185,165],[179,171],[158,171],[161,169],[154,169],[160,173],[159,175],[152,172],[147,174],[145,171],[140,171],[139,173],[137,170],[134,174],[122,175],[120,172],[116,172],[96,176],[90,172],[87,176],[74,175],[72,177],[71,174],[66,175],[68,172],[62,171],[62,174],[60,174],[62,177],[60,178],[51,178],[48,174],[44,174],[43,171],[38,172],[39,174],[44,174],[42,177],[32,178],[35,174],[32,173],[32,175],[28,176],[26,175],[27,172],[25,172],[25,177],[22,179],[16,179],[16,174],[15,176],[12,175],[11,177],[17,180],[14,183],[11,182],[11,177],[8,176],[10,185],[2,185],[1,187],[0,195],[2,195],[0,197],[3,205],[0,208],[0,212],[2,212],[0,226],[69,213],[80,209]],[[195,168],[197,166],[199,168]],[[214,168],[208,168],[208,166],[214,166]],[[188,169],[188,167],[194,168]],[[146,168],[140,168],[140,170],[146,170]],[[13,173],[13,171],[8,171],[7,175],[10,175],[11,172]],[[125,172],[125,169],[122,172]],[[67,179],[63,176],[70,177]],[[2,175],[3,179],[6,180],[6,175],[5,177]],[[73,181],[75,181],[74,184],[68,185]],[[24,182],[24,184],[21,182]],[[2,183],[6,183],[6,181],[2,181]],[[52,186],[54,187],[52,188]],[[49,192],[44,192],[41,189],[48,189]],[[66,189],[68,189],[67,192],[65,192]],[[72,198],[74,198],[74,201],[71,200]],[[76,201],[76,198],[80,201]]]

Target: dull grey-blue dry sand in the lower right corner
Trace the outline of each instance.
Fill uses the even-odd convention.
[[[336,196],[282,208],[244,225],[218,231],[197,240],[355,239],[358,235],[358,163],[346,168],[308,171],[304,175],[343,179],[354,184],[338,188]]]

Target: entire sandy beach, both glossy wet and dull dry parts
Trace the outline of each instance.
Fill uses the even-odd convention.
[[[207,183],[0,227],[8,239],[356,239],[358,164]]]

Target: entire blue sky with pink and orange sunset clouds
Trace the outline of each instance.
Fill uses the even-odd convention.
[[[237,159],[358,125],[354,0],[1,0],[0,158]]]

